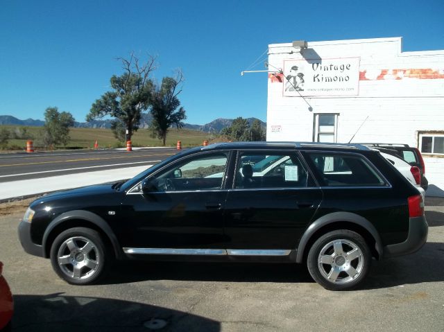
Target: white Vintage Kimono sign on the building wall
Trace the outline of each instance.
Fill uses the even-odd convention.
[[[356,96],[359,58],[284,60],[284,96]]]

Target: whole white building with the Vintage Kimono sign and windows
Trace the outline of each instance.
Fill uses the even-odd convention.
[[[443,50],[402,52],[400,37],[268,48],[268,141],[409,144],[428,194],[444,194]]]

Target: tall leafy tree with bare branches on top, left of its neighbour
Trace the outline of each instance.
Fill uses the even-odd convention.
[[[115,118],[112,124],[114,137],[124,141],[130,140],[133,132],[139,129],[140,116],[150,105],[153,82],[148,76],[155,69],[155,58],[150,55],[145,63],[140,63],[139,58],[131,54],[129,60],[119,60],[123,64],[123,74],[112,76],[113,91],[105,92],[92,104],[86,121],[103,116]]]

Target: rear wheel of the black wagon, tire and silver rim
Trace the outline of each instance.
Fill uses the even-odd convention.
[[[339,229],[324,234],[311,246],[307,267],[311,277],[328,290],[350,290],[370,268],[370,249],[355,231]]]

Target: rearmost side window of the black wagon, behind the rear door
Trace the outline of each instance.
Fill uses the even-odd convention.
[[[372,165],[359,155],[308,153],[325,186],[384,186]]]

